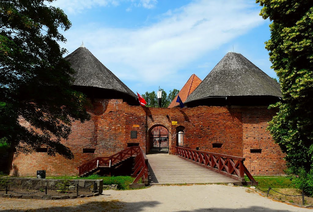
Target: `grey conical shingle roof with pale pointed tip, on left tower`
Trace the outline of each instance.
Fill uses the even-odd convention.
[[[86,47],[81,46],[64,58],[76,71],[75,86],[91,86],[126,93],[136,97],[117,76],[107,69]]]

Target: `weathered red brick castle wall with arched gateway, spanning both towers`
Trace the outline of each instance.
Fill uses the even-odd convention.
[[[266,108],[147,108],[129,106],[120,99],[95,99],[92,105],[93,108],[88,109],[91,121],[75,122],[69,140],[63,141],[74,153],[73,160],[66,160],[59,155],[50,157],[47,153],[21,154],[14,158],[11,174],[35,176],[36,170],[46,170],[47,176],[77,175],[79,165],[98,156],[119,152],[127,147],[127,143],[139,143],[149,153],[150,131],[154,126],[164,126],[169,130],[170,154],[175,152],[176,127],[183,126],[184,146],[188,148],[199,147],[204,151],[244,156],[247,158],[245,164],[249,170],[253,170],[253,174],[283,173],[283,155],[265,131],[267,121],[273,116]],[[177,121],[178,125],[172,125],[172,121]],[[137,131],[137,138],[131,138],[132,130]],[[213,148],[214,142],[223,145],[221,148]],[[262,145],[264,151],[262,149],[261,155],[266,154],[269,160],[262,160],[258,157],[260,155],[248,152],[255,142]],[[88,147],[95,148],[95,153],[83,153],[83,148]],[[274,162],[275,165],[271,164]]]

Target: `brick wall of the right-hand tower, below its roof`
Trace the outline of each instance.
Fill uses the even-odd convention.
[[[266,130],[275,111],[263,108],[245,108],[242,111],[244,164],[253,175],[284,174],[285,155]],[[250,149],[261,149],[261,153],[250,153]]]

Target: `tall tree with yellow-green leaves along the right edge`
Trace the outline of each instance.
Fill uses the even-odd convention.
[[[273,139],[286,153],[291,173],[313,170],[313,2],[257,0],[260,15],[269,18],[272,68],[279,77],[283,101],[269,122]],[[313,185],[312,185],[313,188]]]

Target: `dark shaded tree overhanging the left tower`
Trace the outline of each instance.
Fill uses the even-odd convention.
[[[73,121],[86,121],[85,96],[71,89],[74,71],[63,59],[58,29],[71,26],[53,0],[0,2],[0,142],[18,153],[48,147],[73,158],[68,139]],[[25,125],[30,124],[30,126]]]

